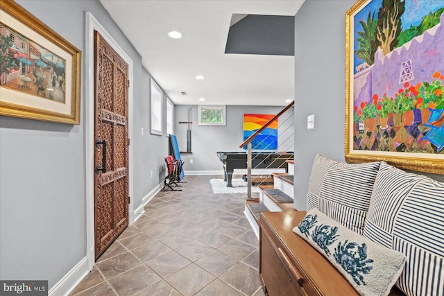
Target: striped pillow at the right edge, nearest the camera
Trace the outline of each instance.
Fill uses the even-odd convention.
[[[407,256],[396,286],[406,295],[444,291],[444,183],[382,162],[364,236]]]

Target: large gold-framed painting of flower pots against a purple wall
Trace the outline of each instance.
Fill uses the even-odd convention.
[[[346,12],[347,162],[444,174],[443,11],[442,1],[359,0]]]

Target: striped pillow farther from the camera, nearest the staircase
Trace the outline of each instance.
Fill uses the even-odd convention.
[[[379,162],[345,164],[316,155],[309,179],[307,211],[317,208],[362,234]]]

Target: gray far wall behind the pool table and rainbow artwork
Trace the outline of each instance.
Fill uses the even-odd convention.
[[[193,154],[181,154],[185,162],[185,171],[220,171],[223,172],[223,166],[216,155],[217,151],[244,151],[239,148],[244,142],[244,114],[278,114],[284,107],[282,106],[226,106],[227,124],[221,126],[198,125],[198,106],[197,105],[176,105],[175,107],[175,125],[174,132],[178,139],[181,151],[187,150],[187,125],[179,124],[179,121],[187,121],[187,111],[192,108],[193,126],[192,126],[192,152]],[[293,139],[282,143],[283,139],[288,139],[287,133],[293,134],[293,119],[290,115],[293,110],[287,111],[279,119],[278,128],[278,150],[293,151]],[[284,119],[289,120],[284,123]],[[290,126],[289,126],[290,125]],[[284,134],[284,130],[288,128]],[[282,134],[282,137],[280,137]],[[282,145],[281,145],[282,143]],[[189,163],[193,159],[193,164]]]

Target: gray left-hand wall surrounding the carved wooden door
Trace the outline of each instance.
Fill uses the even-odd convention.
[[[85,12],[134,62],[133,207],[157,186],[168,138],[149,134],[149,76],[99,1],[17,1],[85,54]],[[0,116],[0,279],[48,279],[53,287],[85,257],[85,59],[81,123]],[[144,128],[144,136],[141,135]],[[153,178],[150,172],[153,171]]]

